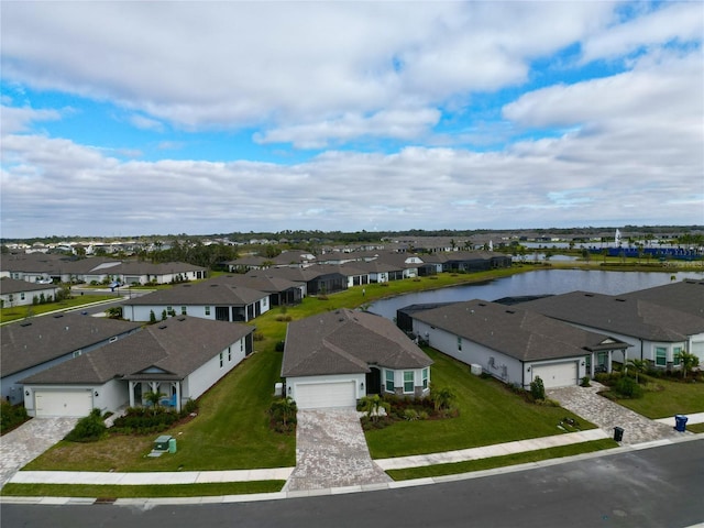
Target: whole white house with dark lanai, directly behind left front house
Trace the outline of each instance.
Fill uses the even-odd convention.
[[[246,322],[270,308],[270,296],[264,292],[211,279],[133,297],[122,305],[122,316],[131,321],[148,321],[152,315],[162,319],[166,314]]]

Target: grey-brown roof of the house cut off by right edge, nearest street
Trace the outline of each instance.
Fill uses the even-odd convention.
[[[572,292],[519,306],[573,324],[649,341],[684,341],[704,332],[702,317],[626,296]]]

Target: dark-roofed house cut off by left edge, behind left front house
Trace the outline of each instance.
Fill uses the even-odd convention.
[[[33,317],[0,327],[2,398],[23,402],[21,380],[114,342],[140,330],[140,324],[78,314]]]

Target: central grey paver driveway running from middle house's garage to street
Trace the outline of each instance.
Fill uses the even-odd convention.
[[[392,482],[370,457],[356,410],[299,410],[297,419],[296,469],[286,491]]]

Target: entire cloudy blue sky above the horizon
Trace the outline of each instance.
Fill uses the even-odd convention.
[[[0,237],[704,224],[704,2],[0,2]]]

